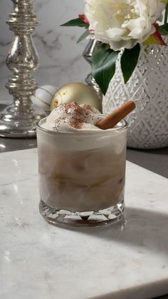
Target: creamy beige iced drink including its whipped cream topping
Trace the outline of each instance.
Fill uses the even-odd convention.
[[[68,103],[38,124],[43,213],[56,214],[54,219],[103,213],[110,219],[117,205],[122,213],[127,126],[121,121],[101,130],[95,125],[103,117],[91,106]]]

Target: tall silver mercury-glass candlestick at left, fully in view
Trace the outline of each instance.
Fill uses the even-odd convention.
[[[14,103],[0,114],[0,136],[32,138],[36,136],[36,121],[46,114],[31,103],[31,95],[37,88],[31,73],[38,67],[38,54],[31,33],[38,26],[31,0],[12,0],[14,11],[9,15],[9,29],[15,37],[9,49],[6,65],[14,76],[6,88],[14,97]]]

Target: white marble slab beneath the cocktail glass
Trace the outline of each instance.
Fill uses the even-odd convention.
[[[168,180],[127,163],[126,223],[68,230],[38,213],[37,150],[0,155],[0,298],[168,293]]]

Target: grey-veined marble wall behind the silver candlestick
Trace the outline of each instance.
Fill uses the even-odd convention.
[[[53,84],[60,87],[68,82],[85,81],[90,71],[90,66],[82,57],[87,41],[76,44],[83,29],[60,27],[60,24],[83,13],[84,1],[35,0],[33,8],[41,23],[33,33],[40,59],[40,67],[33,75],[38,85]],[[9,31],[6,19],[12,10],[12,1],[1,0],[0,89],[4,91],[5,83],[11,75],[6,67],[6,56],[14,34]]]

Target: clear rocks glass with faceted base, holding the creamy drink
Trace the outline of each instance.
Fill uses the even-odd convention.
[[[90,227],[124,213],[127,123],[102,131],[48,131],[38,121],[41,215],[54,225]]]

